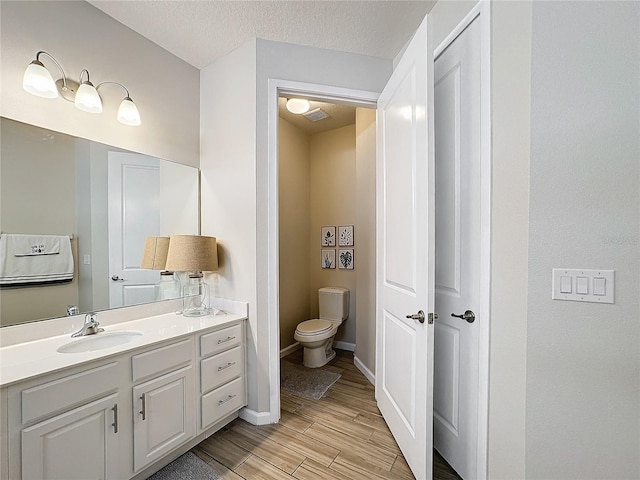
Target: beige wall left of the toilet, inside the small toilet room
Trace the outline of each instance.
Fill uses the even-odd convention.
[[[295,343],[296,326],[311,318],[309,295],[309,135],[280,119],[278,205],[280,240],[280,349]],[[317,249],[316,249],[317,250]]]

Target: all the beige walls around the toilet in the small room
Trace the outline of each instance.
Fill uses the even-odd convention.
[[[361,340],[358,352],[373,371],[375,110],[358,109],[356,125],[309,136],[280,120],[280,347],[295,342],[298,323],[318,316],[319,288],[342,286],[350,291],[349,319],[336,340]],[[354,250],[354,270],[321,268],[325,225],[354,225],[354,246],[348,247]],[[339,249],[333,248],[336,264]]]

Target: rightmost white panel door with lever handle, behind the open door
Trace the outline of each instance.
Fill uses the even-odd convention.
[[[436,287],[434,447],[477,475],[480,306],[480,21],[435,61]]]

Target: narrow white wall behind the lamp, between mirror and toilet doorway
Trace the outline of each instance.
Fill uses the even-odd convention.
[[[208,282],[213,296],[249,303],[248,401],[259,411],[268,342],[256,314],[255,41],[200,71],[200,97],[201,228],[217,239],[219,265]]]

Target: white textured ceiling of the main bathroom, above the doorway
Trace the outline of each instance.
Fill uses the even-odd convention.
[[[257,37],[394,58],[435,1],[88,0],[203,68]]]

